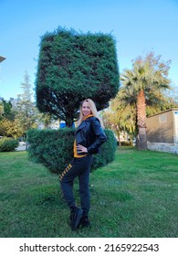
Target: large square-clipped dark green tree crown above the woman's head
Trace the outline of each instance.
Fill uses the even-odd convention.
[[[119,90],[115,39],[58,27],[40,43],[37,65],[37,108],[71,126],[79,102],[91,98],[106,108]]]

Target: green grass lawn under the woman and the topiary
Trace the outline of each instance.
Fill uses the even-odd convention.
[[[0,153],[2,238],[177,238],[178,155],[120,147],[91,173],[90,197],[92,226],[71,231],[58,176],[26,152]]]

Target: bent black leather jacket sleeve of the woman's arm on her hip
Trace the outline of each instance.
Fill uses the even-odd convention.
[[[99,119],[93,118],[91,120],[91,129],[95,134],[95,141],[89,145],[88,152],[90,154],[94,153],[94,151],[99,148],[99,146],[107,141],[106,134],[104,133],[102,127],[100,126]]]

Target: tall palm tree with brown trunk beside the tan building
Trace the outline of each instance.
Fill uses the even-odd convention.
[[[167,79],[170,62],[160,63],[160,58],[154,58],[152,52],[146,59],[139,57],[132,69],[124,69],[120,75],[120,98],[129,104],[136,103],[139,149],[147,149],[146,105],[158,104],[162,90],[170,89],[171,81]]]

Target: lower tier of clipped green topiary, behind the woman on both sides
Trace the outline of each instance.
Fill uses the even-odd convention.
[[[114,159],[117,143],[114,134],[105,130],[108,141],[100,147],[100,153],[94,155],[91,169],[108,165]],[[29,158],[41,163],[53,173],[63,172],[73,157],[75,129],[30,130],[27,133]]]

